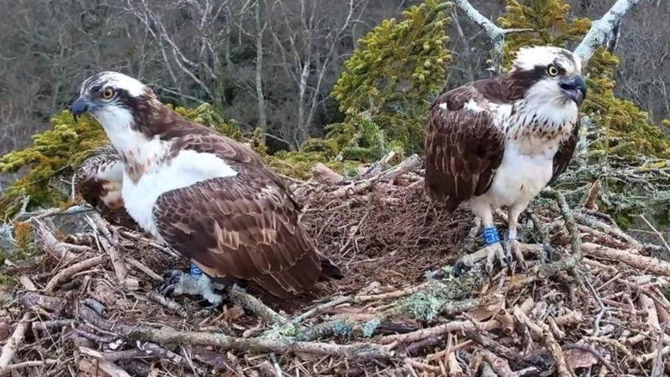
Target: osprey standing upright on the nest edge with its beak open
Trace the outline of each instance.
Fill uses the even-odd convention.
[[[487,271],[504,260],[496,207],[507,207],[508,240],[518,255],[518,217],[564,172],[579,133],[586,84],[566,49],[520,49],[510,71],[439,95],[426,132],[426,192],[449,210],[467,201],[481,218]]]

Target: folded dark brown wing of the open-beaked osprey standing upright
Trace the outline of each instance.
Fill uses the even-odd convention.
[[[448,209],[489,190],[505,150],[481,89],[487,80],[440,95],[432,104],[426,130],[426,192]],[[491,86],[494,82],[491,82]]]

